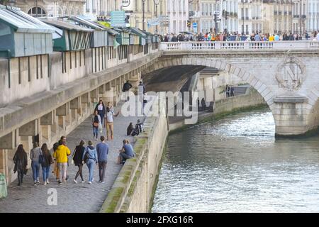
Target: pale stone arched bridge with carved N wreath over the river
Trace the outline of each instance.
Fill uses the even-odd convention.
[[[276,136],[305,135],[319,125],[319,42],[161,43],[142,72],[148,90],[176,92],[204,67],[235,74],[267,102]]]

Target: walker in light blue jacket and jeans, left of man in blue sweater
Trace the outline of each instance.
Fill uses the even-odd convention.
[[[89,184],[92,184],[94,181],[94,163],[98,163],[98,156],[96,153],[96,148],[94,148],[93,143],[91,140],[88,142],[88,146],[85,148],[83,157],[82,157],[83,162],[86,163],[88,169],[89,169]]]

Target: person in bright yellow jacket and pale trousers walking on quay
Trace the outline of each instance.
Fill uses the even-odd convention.
[[[67,156],[71,154],[71,150],[67,148],[65,141],[59,141],[59,147],[53,153],[53,157],[57,160],[57,166],[59,167],[59,184],[67,179]]]

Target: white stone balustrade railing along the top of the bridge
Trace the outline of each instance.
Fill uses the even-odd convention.
[[[298,50],[319,49],[319,41],[162,42],[160,50]]]

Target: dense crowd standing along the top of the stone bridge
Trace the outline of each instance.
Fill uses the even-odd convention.
[[[166,34],[162,37],[162,42],[186,42],[186,41],[288,41],[288,40],[318,40],[319,32],[315,31],[313,34],[303,35],[284,33],[284,34],[262,34],[252,33],[251,35],[241,35],[240,33],[179,33]]]

